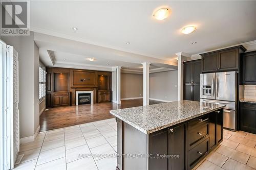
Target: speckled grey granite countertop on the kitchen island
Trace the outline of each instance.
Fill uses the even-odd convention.
[[[111,110],[110,113],[149,134],[224,107],[221,104],[184,100]]]

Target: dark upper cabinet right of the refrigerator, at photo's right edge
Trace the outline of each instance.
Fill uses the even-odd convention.
[[[243,84],[256,85],[256,51],[244,53],[242,55],[242,62],[243,62],[243,73],[242,73]]]

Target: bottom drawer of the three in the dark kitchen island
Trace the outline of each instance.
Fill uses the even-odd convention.
[[[209,152],[209,138],[188,151],[189,169],[193,168]]]

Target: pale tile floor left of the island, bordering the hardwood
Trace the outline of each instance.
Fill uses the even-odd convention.
[[[39,133],[20,145],[24,157],[14,169],[115,169],[117,125],[114,118]]]

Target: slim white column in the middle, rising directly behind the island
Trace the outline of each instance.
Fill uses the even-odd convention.
[[[143,106],[150,104],[150,63],[144,62],[143,65]]]

